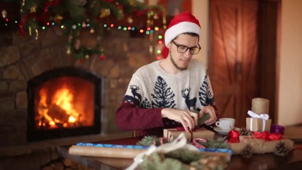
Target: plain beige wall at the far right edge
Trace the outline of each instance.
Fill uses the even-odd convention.
[[[278,124],[302,123],[302,0],[282,0]]]

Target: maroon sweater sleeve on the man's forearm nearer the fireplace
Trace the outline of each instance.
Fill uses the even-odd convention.
[[[115,113],[115,123],[123,130],[163,127],[161,109],[140,108],[133,103],[122,102]]]

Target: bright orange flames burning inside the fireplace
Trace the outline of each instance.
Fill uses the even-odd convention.
[[[58,128],[58,125],[67,127],[78,122],[80,114],[73,108],[73,94],[68,88],[61,88],[55,92],[51,105],[47,105],[47,92],[40,90],[38,112],[46,121],[39,120],[39,127]]]

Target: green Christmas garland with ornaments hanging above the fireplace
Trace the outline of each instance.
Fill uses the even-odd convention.
[[[13,1],[13,0],[12,0]],[[117,19],[124,14],[141,16],[152,10],[153,14],[160,14],[160,6],[148,6],[137,0],[20,0],[21,20],[19,22],[20,36],[25,32],[35,33],[38,39],[39,30],[47,26],[58,25],[64,34],[69,35],[67,54],[74,53],[76,60],[82,62],[92,54],[98,54],[104,59],[104,50],[101,45],[103,34],[102,18],[114,15]],[[79,41],[82,29],[90,29],[90,33],[97,34],[97,44],[93,47],[84,47]]]

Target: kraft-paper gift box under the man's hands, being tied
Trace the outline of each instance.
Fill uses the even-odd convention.
[[[193,132],[186,132],[185,130],[179,130],[176,128],[173,129],[163,129],[163,136],[172,140],[176,139],[181,133],[184,133],[187,139],[195,139],[195,138],[214,138],[214,132],[204,129],[198,128],[195,129]]]

